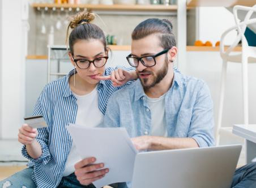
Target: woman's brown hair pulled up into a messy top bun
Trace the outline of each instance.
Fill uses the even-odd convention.
[[[92,11],[83,11],[78,14],[72,16],[69,26],[67,27],[67,39],[69,39],[69,50],[73,54],[73,46],[78,40],[91,40],[96,39],[100,40],[103,45],[105,51],[106,49],[106,37],[101,28],[97,25],[92,24],[92,20],[94,20],[95,14]],[[72,29],[69,35],[69,29]]]

